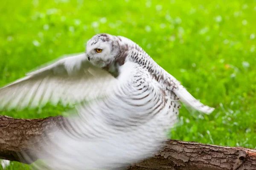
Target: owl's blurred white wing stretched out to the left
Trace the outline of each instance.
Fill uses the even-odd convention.
[[[105,95],[116,81],[90,64],[85,54],[64,57],[0,88],[0,109],[74,104]]]

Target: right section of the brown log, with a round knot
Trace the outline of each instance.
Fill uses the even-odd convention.
[[[129,170],[256,170],[256,150],[167,140],[153,158]]]

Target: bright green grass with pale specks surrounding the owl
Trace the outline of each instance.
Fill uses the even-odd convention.
[[[172,139],[256,148],[256,0],[2,0],[0,16],[0,86],[84,51],[94,34],[122,35],[216,108],[204,115],[183,107]],[[63,111],[0,114],[41,118]],[[6,169],[26,168],[11,162]]]

